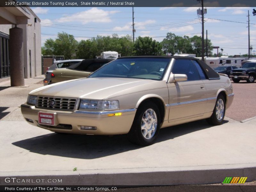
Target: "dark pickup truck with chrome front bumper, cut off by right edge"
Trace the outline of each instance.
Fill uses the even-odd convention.
[[[231,70],[230,77],[235,83],[238,83],[240,80],[253,83],[256,77],[256,63],[245,63],[242,68]]]

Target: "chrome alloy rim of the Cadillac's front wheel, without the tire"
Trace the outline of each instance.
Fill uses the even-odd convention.
[[[145,139],[151,139],[156,132],[157,116],[153,109],[147,109],[141,119],[141,132]]]

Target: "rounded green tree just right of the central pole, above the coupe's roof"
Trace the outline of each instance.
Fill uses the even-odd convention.
[[[138,37],[134,42],[134,55],[163,55],[162,45],[151,37]]]

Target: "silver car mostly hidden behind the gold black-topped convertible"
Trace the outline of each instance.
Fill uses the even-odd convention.
[[[44,73],[44,85],[52,84],[51,79],[52,79],[52,71],[58,68],[67,68],[73,64],[81,62],[82,59],[73,59],[73,60],[59,60],[59,61],[54,61],[53,65],[46,69],[46,72]]]

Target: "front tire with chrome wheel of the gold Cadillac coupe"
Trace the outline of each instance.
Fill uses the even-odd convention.
[[[145,102],[138,108],[127,137],[131,143],[148,146],[155,142],[159,129],[159,109],[155,103]]]

